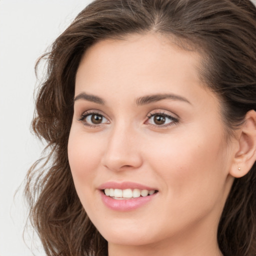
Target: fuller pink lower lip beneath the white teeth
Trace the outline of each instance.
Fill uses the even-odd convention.
[[[103,203],[108,208],[112,210],[118,210],[118,211],[128,211],[128,210],[137,209],[143,206],[145,203],[149,202],[156,195],[156,193],[154,193],[147,196],[140,196],[136,198],[118,200],[105,195],[104,192],[102,191],[100,191],[100,194],[101,194],[101,199]]]

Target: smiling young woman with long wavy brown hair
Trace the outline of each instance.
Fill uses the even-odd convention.
[[[27,175],[47,255],[254,255],[256,9],[96,0],[55,40]]]

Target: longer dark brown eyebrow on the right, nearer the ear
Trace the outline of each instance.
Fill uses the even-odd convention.
[[[171,93],[153,94],[153,95],[139,97],[136,100],[136,104],[137,105],[145,105],[145,104],[149,104],[149,103],[156,102],[156,101],[166,99],[166,98],[173,99],[173,100],[181,100],[181,101],[191,104],[186,98],[176,95],[176,94],[171,94]]]

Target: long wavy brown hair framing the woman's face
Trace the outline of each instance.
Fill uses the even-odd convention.
[[[232,131],[256,110],[256,9],[249,0],[95,0],[54,41],[32,122],[46,157],[26,176],[30,220],[47,255],[107,255],[107,242],[76,194],[67,158],[74,79],[93,43],[148,31],[169,34],[203,55],[201,78],[220,98]],[[256,253],[256,166],[234,180],[218,226],[225,256]]]

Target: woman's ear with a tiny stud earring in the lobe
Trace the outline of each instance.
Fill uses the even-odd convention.
[[[256,160],[256,112],[246,113],[238,130],[237,147],[229,174],[239,178],[247,174]]]

